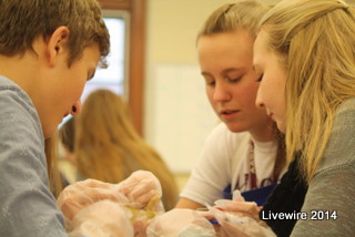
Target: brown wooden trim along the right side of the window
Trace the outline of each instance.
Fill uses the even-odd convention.
[[[102,9],[126,10],[130,19],[129,105],[133,125],[143,135],[144,42],[146,0],[99,0]]]

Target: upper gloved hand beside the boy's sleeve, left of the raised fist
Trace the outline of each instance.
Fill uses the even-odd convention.
[[[114,190],[114,185],[95,179],[77,182],[65,187],[57,203],[64,215],[67,229],[71,230],[71,220],[80,210],[103,199],[128,202],[124,195]]]

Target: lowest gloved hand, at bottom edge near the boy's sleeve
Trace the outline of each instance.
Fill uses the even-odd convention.
[[[112,200],[100,200],[79,212],[70,237],[133,237],[130,212]]]

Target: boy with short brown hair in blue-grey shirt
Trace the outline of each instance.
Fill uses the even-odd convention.
[[[0,0],[0,236],[67,236],[44,140],[109,48],[97,0]]]

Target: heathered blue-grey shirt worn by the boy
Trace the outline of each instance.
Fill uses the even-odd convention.
[[[0,75],[0,236],[67,236],[49,189],[44,137],[30,97]]]

